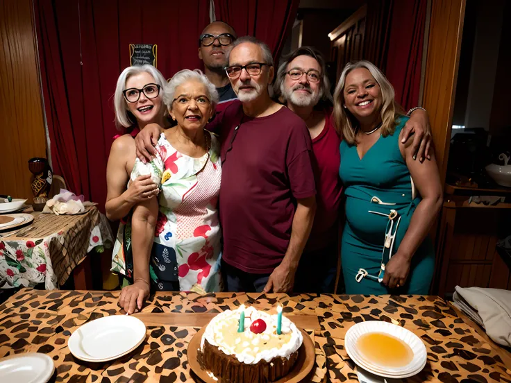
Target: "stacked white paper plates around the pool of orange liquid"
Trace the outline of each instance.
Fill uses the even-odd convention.
[[[405,366],[385,366],[367,355],[358,347],[360,337],[371,333],[386,334],[407,344],[413,352],[411,361]],[[413,332],[398,325],[380,321],[361,322],[353,325],[344,337],[344,346],[349,357],[358,366],[381,377],[402,379],[417,375],[426,366],[427,352],[424,343]]]

